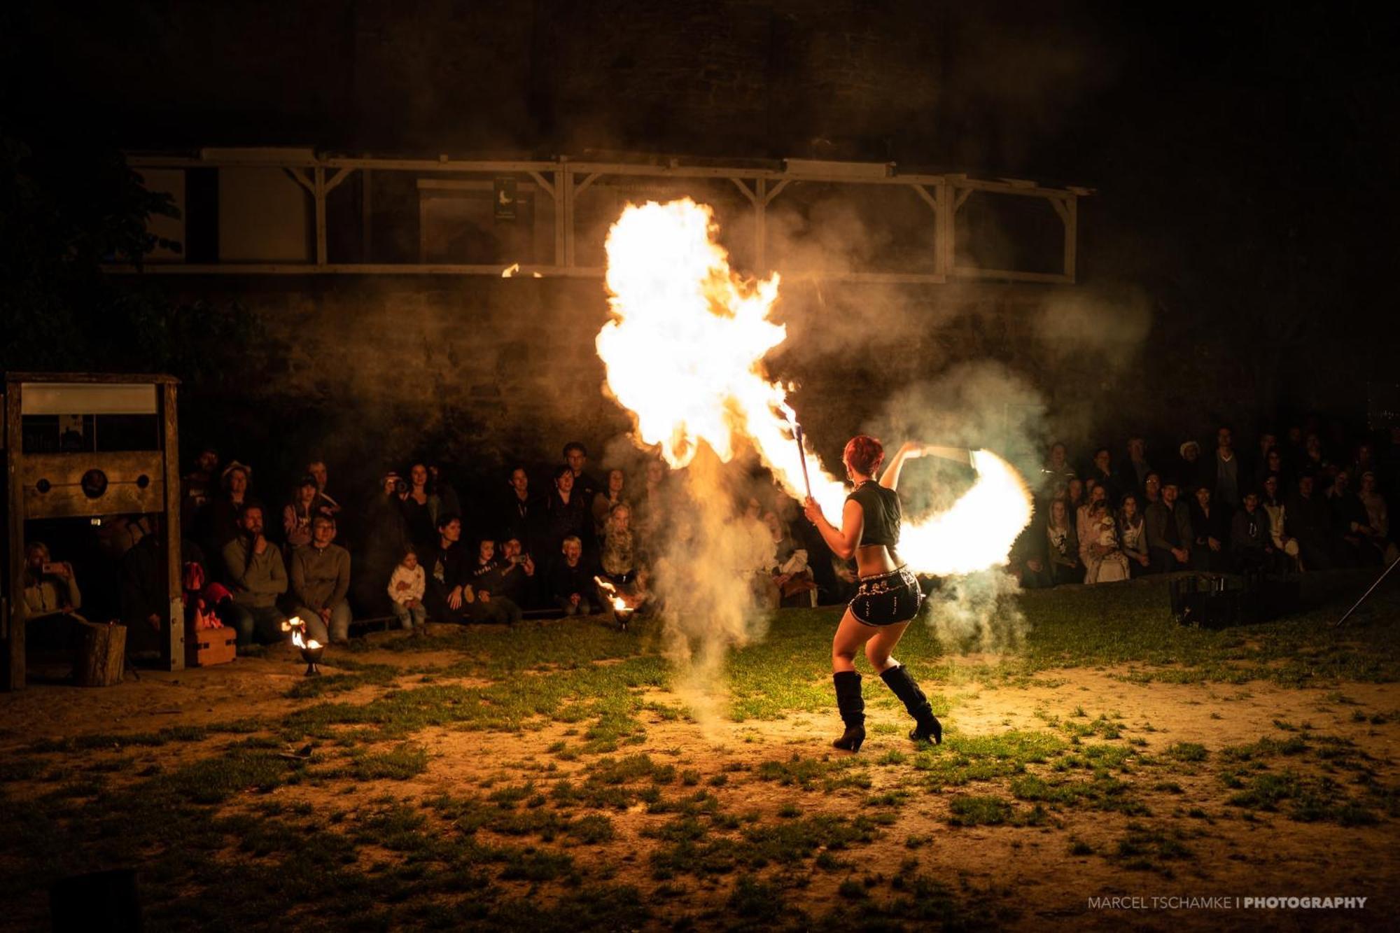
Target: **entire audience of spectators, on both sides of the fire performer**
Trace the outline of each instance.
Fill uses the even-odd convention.
[[[1117,461],[1099,447],[1085,462],[1053,444],[1030,478],[1035,518],[1008,569],[1035,588],[1176,570],[1389,563],[1400,556],[1387,511],[1400,482],[1400,429],[1389,440],[1378,457],[1369,440],[1323,443],[1309,424],[1281,437],[1264,431],[1242,451],[1222,426],[1208,454],[1191,438],[1149,454],[1131,437]],[[203,450],[181,490],[186,611],[232,626],[239,644],[284,640],[293,615],[308,637],[343,643],[368,619],[421,633],[428,622],[587,616],[617,600],[645,612],[650,569],[687,525],[683,496],[659,459],[602,476],[589,474],[585,447],[570,443],[557,466],[515,465],[468,496],[440,464],[413,462],[343,507],[321,459],[277,496],[258,489],[252,466]],[[762,481],[752,489],[732,507],[736,579],[771,608],[848,598],[854,567],[832,556],[798,503]],[[137,651],[157,647],[169,605],[158,532],[157,516],[116,517],[98,530]],[[38,541],[25,552],[24,597],[36,646],[60,644],[63,621],[81,618],[73,563],[53,560]]]

